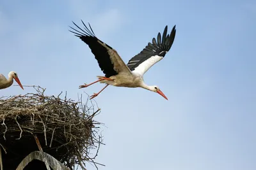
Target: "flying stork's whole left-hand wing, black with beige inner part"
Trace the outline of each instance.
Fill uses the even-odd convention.
[[[74,23],[74,22],[73,22]],[[100,41],[98,39],[93,30],[91,25],[90,29],[86,27],[83,20],[82,23],[84,25],[84,30],[81,29],[79,26],[76,25],[77,29],[73,29],[75,36],[79,37],[86,43],[92,50],[92,53],[95,55],[95,59],[97,59],[100,69],[103,71],[106,77],[114,76],[120,72],[129,72],[129,68],[125,65],[124,61],[118,55],[116,50],[114,50],[111,46],[107,45],[106,43]]]

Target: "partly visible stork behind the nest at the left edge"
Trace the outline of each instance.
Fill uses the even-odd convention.
[[[17,81],[17,83],[19,84],[19,86],[21,87],[21,89],[23,89],[20,80],[18,78],[18,74],[15,73],[15,71],[10,71],[10,73],[8,74],[8,80],[5,78],[5,76],[3,74],[0,74],[0,89],[6,89],[7,87],[10,87],[13,83],[13,79],[15,81]],[[24,89],[23,89],[24,90]]]

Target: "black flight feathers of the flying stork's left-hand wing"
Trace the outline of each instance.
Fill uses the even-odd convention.
[[[80,39],[82,39],[82,41],[84,41],[84,43],[86,43],[92,50],[92,53],[95,55],[95,59],[97,59],[98,64],[100,69],[103,71],[103,73],[105,74],[106,77],[110,77],[110,76],[114,76],[116,74],[118,74],[115,70],[114,70],[114,65],[111,62],[111,59],[109,58],[109,54],[108,54],[108,48],[113,49],[111,46],[105,44],[104,42],[100,41],[100,39],[98,39],[90,24],[89,27],[90,29],[88,29],[88,27],[84,24],[83,20],[81,20],[83,25],[84,25],[84,30],[81,29],[78,25],[76,25],[74,22],[74,25],[76,25],[77,29],[79,29],[80,31],[78,31],[77,29],[74,29],[72,27],[70,27],[73,31],[70,31],[72,33],[75,34],[75,36],[79,37]],[[101,43],[103,43],[106,46],[103,46]],[[108,48],[106,48],[108,47]]]

